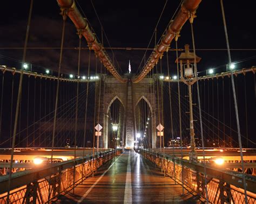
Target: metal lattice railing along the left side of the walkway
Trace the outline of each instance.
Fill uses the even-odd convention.
[[[49,164],[12,174],[9,203],[45,203],[70,191],[89,177],[93,171],[121,153],[122,150],[105,151],[93,156]],[[75,166],[75,173],[74,173]],[[75,176],[75,184],[74,184]],[[0,203],[8,203],[8,175],[0,177]]]

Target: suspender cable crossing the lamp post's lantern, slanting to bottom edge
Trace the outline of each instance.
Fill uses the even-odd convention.
[[[191,14],[191,18],[190,18],[190,25],[191,25],[191,36],[192,36],[192,43],[193,43],[193,52],[194,52],[194,73],[196,74],[197,78],[197,60],[196,60],[196,46],[194,43],[194,30],[193,30],[193,16]],[[213,85],[213,82],[212,82]],[[201,140],[202,140],[202,147],[203,147],[203,160],[204,160],[204,178],[205,178],[205,194],[206,194],[206,201],[207,203],[208,201],[208,190],[207,190],[207,174],[206,174],[206,164],[205,164],[205,145],[204,145],[204,135],[203,135],[203,122],[202,122],[202,113],[201,113],[201,99],[200,99],[200,92],[199,92],[199,83],[197,80],[197,100],[198,100],[198,108],[199,108],[199,119],[200,119],[200,133],[201,133]]]

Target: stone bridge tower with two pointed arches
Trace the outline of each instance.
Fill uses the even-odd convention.
[[[99,147],[108,147],[109,137],[109,110],[114,100],[118,99],[124,107],[122,112],[121,138],[126,148],[133,148],[136,137],[136,116],[135,108],[140,100],[145,100],[150,108],[151,129],[152,129],[152,147],[159,147],[156,126],[162,121],[162,112],[160,118],[158,109],[161,110],[162,102],[157,101],[157,80],[154,78],[144,78],[138,83],[133,83],[131,74],[126,74],[127,82],[121,83],[113,76],[102,75],[102,81],[96,82],[96,107],[99,105],[99,124],[103,126],[102,136],[99,138]],[[99,91],[100,87],[100,91]],[[160,88],[159,88],[160,92]],[[100,96],[99,96],[100,93]],[[159,94],[160,95],[160,94]],[[99,104],[98,104],[99,101]],[[159,107],[158,107],[159,105]],[[97,122],[97,121],[96,121]],[[163,123],[162,123],[163,124]]]

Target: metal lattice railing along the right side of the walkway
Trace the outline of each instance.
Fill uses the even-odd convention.
[[[184,182],[194,192],[206,198],[211,203],[245,203],[244,189],[242,189],[241,173],[231,170],[219,170],[206,166],[206,181],[204,165],[191,163],[176,157],[141,149],[144,158],[152,161],[170,177]],[[183,171],[183,174],[181,173]],[[183,176],[182,176],[183,175]],[[248,203],[256,203],[256,177],[246,175]]]

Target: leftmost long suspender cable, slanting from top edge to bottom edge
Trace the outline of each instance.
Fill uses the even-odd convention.
[[[29,39],[29,29],[30,29],[30,22],[31,22],[31,16],[32,16],[32,8],[33,8],[33,0],[31,0],[30,2],[29,19],[28,19],[28,25],[26,27],[26,37],[25,37],[25,44],[24,44],[23,58],[22,58],[23,62],[26,59],[26,47],[28,45],[28,39]],[[7,203],[10,202],[9,199],[10,199],[10,188],[11,188],[12,162],[14,159],[14,147],[15,147],[15,139],[16,139],[16,131],[17,131],[18,114],[19,114],[19,103],[21,101],[23,72],[24,72],[24,69],[22,67],[21,75],[19,77],[19,89],[18,89],[18,96],[17,96],[15,121],[14,121],[14,135],[12,137],[11,161],[10,161],[10,167],[9,167],[10,174],[8,179],[8,193],[7,193],[7,200],[6,200]]]

